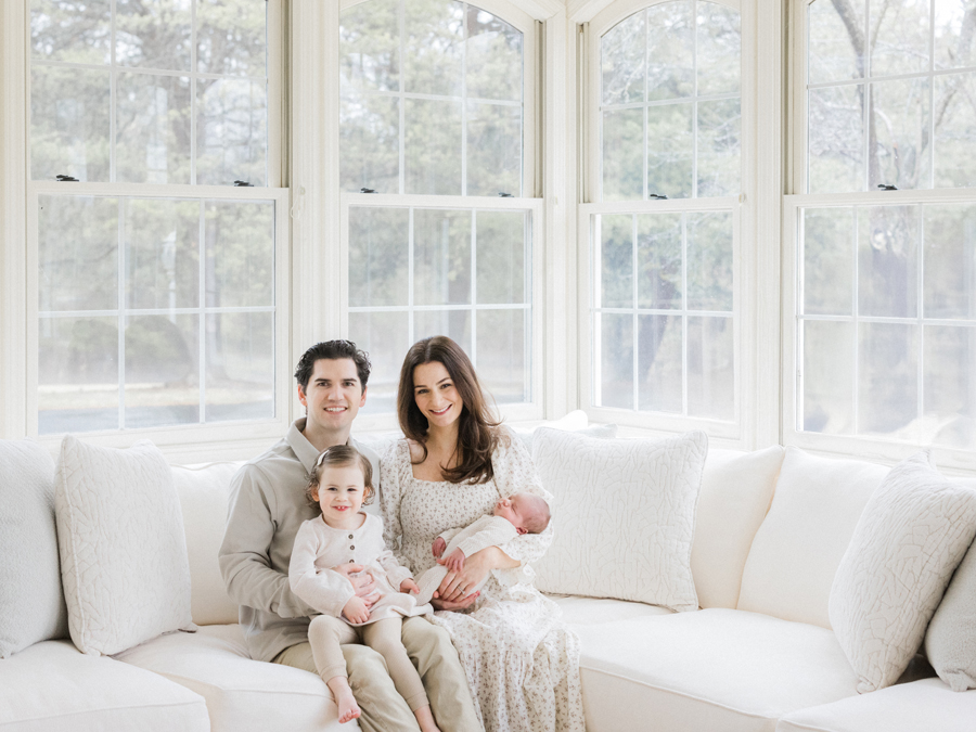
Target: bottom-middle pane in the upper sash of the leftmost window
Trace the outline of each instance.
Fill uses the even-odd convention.
[[[116,169],[132,183],[190,182],[190,79],[119,74]]]

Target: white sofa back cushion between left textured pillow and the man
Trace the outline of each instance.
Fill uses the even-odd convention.
[[[230,481],[243,464],[172,466],[190,560],[190,607],[201,626],[237,621],[237,604],[227,596],[217,550],[227,524]]]

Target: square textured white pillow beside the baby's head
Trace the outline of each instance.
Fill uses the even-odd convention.
[[[552,545],[534,564],[536,586],[697,609],[691,547],[705,433],[595,439],[542,428],[532,441],[555,522]]]

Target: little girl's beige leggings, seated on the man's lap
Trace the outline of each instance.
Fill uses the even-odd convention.
[[[352,627],[338,618],[320,615],[312,618],[308,627],[308,642],[312,646],[316,670],[326,684],[337,676],[348,678],[346,659],[343,658],[344,643],[365,643],[386,662],[386,670],[394,680],[397,692],[407,702],[411,711],[429,704],[420,673],[407,657],[407,648],[400,641],[403,618],[386,618],[365,626]]]

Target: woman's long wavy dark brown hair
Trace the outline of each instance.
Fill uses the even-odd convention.
[[[444,477],[451,483],[486,483],[495,476],[491,453],[498,442],[497,427],[500,424],[491,415],[488,403],[478,383],[471,359],[461,347],[446,335],[418,341],[407,351],[400,370],[400,387],[397,389],[397,416],[400,429],[424,450],[427,459],[427,418],[416,406],[413,396],[413,370],[423,363],[441,363],[454,382],[454,388],[464,401],[458,418],[458,446],[454,454],[458,464],[441,468]]]

